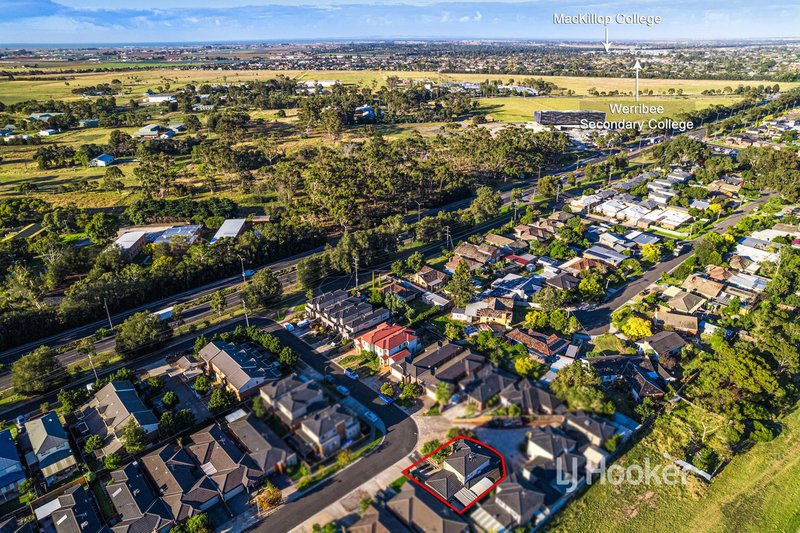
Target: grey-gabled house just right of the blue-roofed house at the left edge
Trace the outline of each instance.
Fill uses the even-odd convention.
[[[38,465],[47,485],[63,479],[77,468],[67,431],[55,411],[26,422],[25,435],[31,447],[25,461],[28,466]]]

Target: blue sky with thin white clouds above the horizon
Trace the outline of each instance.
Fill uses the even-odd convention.
[[[610,25],[612,42],[800,37],[797,0],[0,0],[0,43],[602,40],[602,26],[555,25],[554,13],[662,17]]]

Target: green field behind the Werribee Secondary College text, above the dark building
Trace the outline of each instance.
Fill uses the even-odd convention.
[[[729,105],[739,99],[736,96],[649,96],[640,98],[638,103],[663,106],[663,116],[674,117],[683,111],[703,109],[711,105]],[[481,98],[478,101],[494,120],[502,122],[530,122],[534,111],[543,109],[596,109],[605,111],[609,120],[647,120],[661,116],[611,113],[610,104],[634,105],[637,102],[633,97],[507,97]]]

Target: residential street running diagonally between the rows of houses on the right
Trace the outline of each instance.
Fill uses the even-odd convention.
[[[729,217],[721,220],[713,226],[717,233],[724,233],[731,226],[736,225],[743,217],[747,216],[757,206],[764,205],[769,200],[769,195],[762,195],[758,200],[751,202],[735,211]],[[695,241],[696,243],[696,241]],[[593,309],[575,311],[575,318],[581,323],[583,329],[589,335],[600,335],[608,331],[609,324],[611,323],[611,314],[625,305],[631,298],[636,296],[639,292],[647,288],[651,283],[655,283],[661,274],[669,272],[683,262],[689,255],[694,253],[694,244],[690,250],[686,250],[678,257],[673,257],[668,261],[662,261],[655,265],[653,268],[644,273],[644,275],[628,283],[624,290],[616,294],[611,300],[604,302]]]

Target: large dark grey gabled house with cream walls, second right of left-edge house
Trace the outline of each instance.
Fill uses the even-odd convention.
[[[90,435],[102,437],[105,454],[122,448],[120,436],[131,421],[141,426],[148,435],[158,430],[158,418],[145,406],[130,381],[107,384],[75,415],[78,419],[76,427],[82,438]]]

